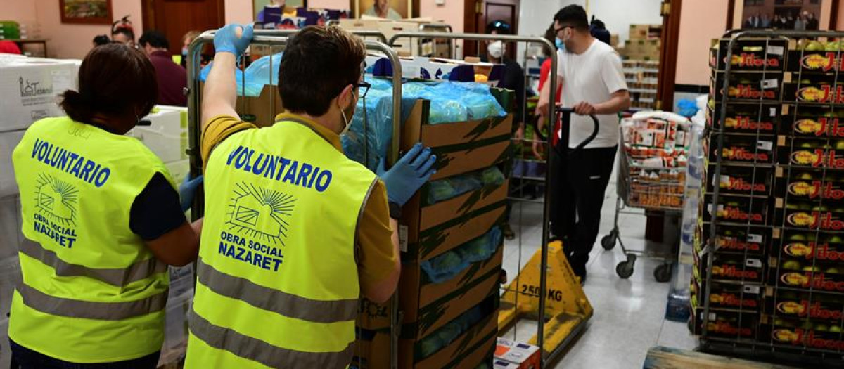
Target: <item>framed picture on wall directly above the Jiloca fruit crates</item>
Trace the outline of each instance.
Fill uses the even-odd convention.
[[[728,29],[835,29],[839,0],[730,0]]]

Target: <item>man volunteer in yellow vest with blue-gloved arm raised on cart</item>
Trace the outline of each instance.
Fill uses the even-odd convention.
[[[360,295],[385,302],[398,283],[389,217],[434,173],[436,158],[417,144],[382,183],[344,156],[339,134],[368,84],[363,42],[337,27],[306,27],[289,40],[279,66],[289,114],[261,129],[238,120],[235,60],[251,39],[252,26],[236,24],[214,36],[202,107],[206,217],[185,367],[345,367]]]

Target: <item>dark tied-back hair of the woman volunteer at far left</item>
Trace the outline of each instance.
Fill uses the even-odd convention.
[[[76,121],[95,114],[139,118],[149,114],[158,97],[155,68],[142,51],[111,43],[96,46],[79,66],[78,91],[62,94],[62,109]]]

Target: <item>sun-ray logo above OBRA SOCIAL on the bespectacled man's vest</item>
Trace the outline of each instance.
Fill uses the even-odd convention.
[[[226,213],[231,230],[246,233],[253,238],[266,242],[281,243],[287,238],[292,215],[293,195],[257,187],[241,182],[230,199],[229,212]]]

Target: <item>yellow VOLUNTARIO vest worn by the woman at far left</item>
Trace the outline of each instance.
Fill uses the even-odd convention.
[[[13,153],[25,241],[8,335],[78,363],[148,356],[164,340],[169,276],[129,228],[156,173],[138,140],[68,117],[33,124]]]

